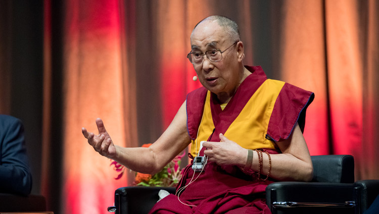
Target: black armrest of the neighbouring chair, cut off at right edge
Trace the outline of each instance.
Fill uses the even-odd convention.
[[[359,209],[363,213],[379,195],[379,180],[361,180],[355,182],[354,186],[358,189]]]

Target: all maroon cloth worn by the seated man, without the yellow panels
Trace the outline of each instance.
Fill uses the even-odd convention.
[[[230,106],[233,104],[238,104],[234,106],[233,114],[229,115],[227,111],[221,112],[219,103],[215,99],[211,101],[212,118],[216,120],[214,122],[215,130],[218,130],[216,133],[224,133],[227,130],[251,95],[254,94],[254,91],[267,79],[261,67],[246,68],[253,74],[240,85],[226,106],[226,108],[231,108]],[[200,88],[187,96],[187,128],[192,139],[196,138],[205,95],[206,89]],[[313,97],[312,92],[304,91],[286,83],[276,99],[270,118],[267,131],[269,139],[274,142],[287,139],[296,122],[299,123],[303,131],[305,110],[312,102]],[[218,108],[216,108],[217,106]],[[227,110],[226,108],[225,110]],[[217,110],[219,111],[217,112]],[[216,142],[219,140],[217,134],[211,134],[208,139],[208,141]],[[266,151],[272,154],[279,152],[269,149]],[[188,165],[183,170],[183,177],[177,186],[177,190],[192,181],[194,171],[191,166]],[[198,175],[199,172],[196,172],[193,180]],[[265,178],[264,175],[262,177]],[[252,171],[246,172],[236,166],[218,166],[215,163],[208,162],[205,171],[196,181],[180,192],[179,199],[181,202],[178,196],[170,194],[155,204],[150,213],[271,213],[265,202],[265,189],[272,182],[274,181],[270,179],[258,181],[257,175]]]

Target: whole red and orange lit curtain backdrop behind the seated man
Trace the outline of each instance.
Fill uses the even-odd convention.
[[[154,142],[200,87],[185,56],[194,26],[213,14],[239,23],[245,65],[315,93],[304,132],[312,155],[352,154],[356,180],[379,179],[377,1],[44,0],[39,182],[50,206],[60,189],[54,211],[105,213],[115,189],[131,184],[133,173],[116,180],[80,129],[96,132],[100,117],[118,145]],[[0,51],[0,111],[9,113],[12,72],[2,53],[10,50]]]

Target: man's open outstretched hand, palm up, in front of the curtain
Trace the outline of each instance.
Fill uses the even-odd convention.
[[[111,136],[109,136],[107,130],[105,129],[102,119],[96,119],[96,125],[99,130],[98,135],[94,135],[92,132],[87,132],[85,128],[82,128],[81,132],[84,137],[87,138],[89,145],[91,145],[95,151],[108,158],[115,157],[117,153],[116,147],[112,142]]]

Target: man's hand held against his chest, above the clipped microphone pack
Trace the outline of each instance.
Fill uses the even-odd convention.
[[[223,134],[220,134],[220,140],[221,142],[203,143],[203,147],[207,148],[204,155],[208,156],[208,161],[215,162],[219,166],[245,166],[248,150],[227,139]]]

